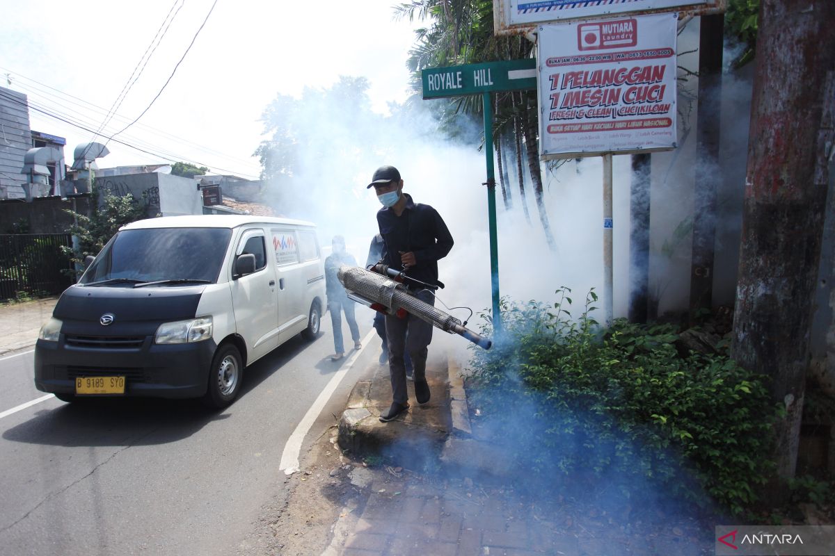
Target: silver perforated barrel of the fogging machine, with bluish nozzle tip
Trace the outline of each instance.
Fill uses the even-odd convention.
[[[493,345],[488,338],[464,327],[458,318],[414,297],[402,283],[395,282],[392,278],[372,273],[365,268],[345,265],[339,268],[337,277],[349,295],[353,294],[352,297],[367,300],[369,304],[379,303],[395,313],[402,308],[444,332],[467,338],[481,348],[489,349]]]

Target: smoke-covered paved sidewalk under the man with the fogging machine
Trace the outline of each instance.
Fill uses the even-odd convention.
[[[387,365],[372,364],[354,387],[335,438],[318,447],[331,453],[338,442],[347,459],[322,463],[316,448],[311,453],[318,464],[308,468],[306,483],[297,483],[301,493],[315,482],[322,493],[344,493],[322,554],[712,553],[712,528],[686,513],[659,513],[640,503],[605,508],[561,492],[556,482],[529,483],[530,470],[512,468],[512,454],[471,428],[462,372],[454,357],[445,357],[452,351],[445,351],[444,338],[437,333],[429,349],[429,403],[415,403],[410,383],[407,413],[381,423],[391,384]],[[291,511],[302,507],[296,503]]]

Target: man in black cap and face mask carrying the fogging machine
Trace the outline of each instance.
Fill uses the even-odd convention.
[[[377,212],[377,225],[386,247],[384,263],[394,270],[402,270],[407,278],[412,278],[404,281],[410,293],[424,303],[434,305],[432,288],[443,288],[443,283],[438,281],[438,259],[446,257],[453,248],[453,237],[446,223],[434,208],[414,203],[411,195],[402,193],[403,180],[393,166],[377,168],[368,188],[374,188],[377,200],[382,204]],[[417,403],[429,401],[426,359],[428,345],[432,342],[432,328],[432,324],[410,313],[405,318],[386,315],[392,407],[380,415],[383,423],[391,421],[409,408],[404,353],[408,353],[412,359]]]

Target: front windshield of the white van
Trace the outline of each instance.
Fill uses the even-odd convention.
[[[214,283],[231,235],[228,228],[122,230],[78,283]]]

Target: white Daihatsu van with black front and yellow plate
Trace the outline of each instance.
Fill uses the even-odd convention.
[[[59,399],[240,393],[244,368],[319,335],[316,227],[286,218],[176,216],[119,230],[63,292],[35,347],[35,386]]]

